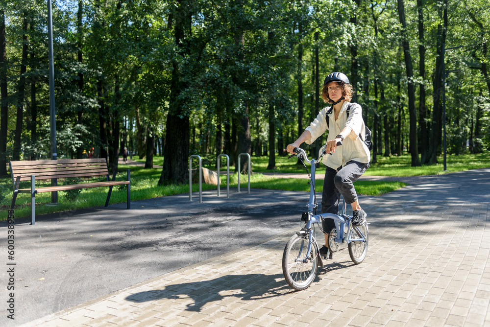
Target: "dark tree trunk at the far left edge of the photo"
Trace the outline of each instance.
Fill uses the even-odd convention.
[[[5,12],[0,9],[0,94],[1,94],[1,118],[0,118],[0,176],[7,175],[7,49],[5,34]]]

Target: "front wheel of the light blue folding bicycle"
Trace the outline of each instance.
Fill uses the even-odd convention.
[[[308,235],[293,235],[282,256],[282,272],[289,286],[295,290],[308,288],[317,276],[318,246],[316,242],[308,250]]]

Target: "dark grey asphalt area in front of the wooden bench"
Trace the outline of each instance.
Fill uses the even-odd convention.
[[[306,181],[305,181],[306,183]],[[242,188],[167,196],[108,208],[16,219],[15,260],[8,261],[6,222],[0,223],[3,265],[15,262],[18,326],[211,257],[250,246],[299,224],[306,192]],[[5,312],[8,276],[2,269]]]

